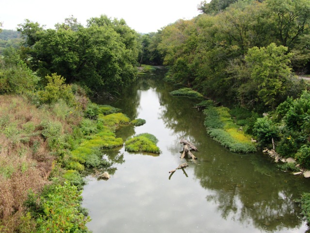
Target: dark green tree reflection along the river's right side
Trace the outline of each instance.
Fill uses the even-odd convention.
[[[217,204],[224,219],[233,218],[246,225],[251,223],[263,231],[295,228],[302,224],[294,199],[302,191],[310,190],[307,184],[296,183],[295,177],[289,174],[283,180],[286,174],[279,173],[274,165],[269,166],[261,154],[242,158],[206,141],[203,115],[191,108],[199,100],[172,97],[168,84],[156,84],[160,118],[178,138],[185,137],[199,148],[195,175],[202,187],[211,190],[206,199]]]

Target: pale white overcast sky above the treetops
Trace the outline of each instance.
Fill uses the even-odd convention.
[[[73,15],[86,25],[91,17],[107,15],[124,18],[139,33],[157,32],[178,19],[191,19],[200,14],[202,0],[1,0],[2,29],[16,30],[25,19],[54,29],[56,23]]]

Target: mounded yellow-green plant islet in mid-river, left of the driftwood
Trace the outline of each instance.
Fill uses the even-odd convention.
[[[125,150],[129,152],[151,152],[159,154],[156,146],[158,139],[150,133],[141,133],[125,142]]]

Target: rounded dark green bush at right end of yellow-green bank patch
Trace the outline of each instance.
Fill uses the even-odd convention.
[[[279,137],[279,129],[268,117],[258,118],[254,124],[253,134],[260,141],[262,146],[270,145],[272,138]]]

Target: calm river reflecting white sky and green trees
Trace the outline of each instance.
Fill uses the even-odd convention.
[[[233,153],[213,141],[197,100],[172,97],[177,89],[149,74],[111,105],[146,124],[124,126],[124,140],[138,133],[158,139],[160,155],[104,151],[114,162],[108,181],[87,178],[82,193],[93,233],[305,233],[295,199],[310,192],[310,180],[281,172],[261,152]],[[192,142],[198,160],[181,161],[180,139]],[[180,164],[184,171],[168,172]],[[309,231],[310,232],[310,231]]]

